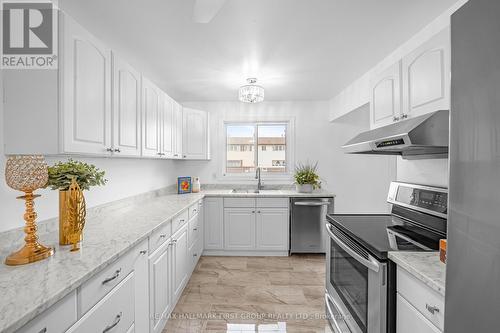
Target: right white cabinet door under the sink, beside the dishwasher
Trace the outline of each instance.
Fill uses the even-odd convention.
[[[288,250],[288,209],[257,209],[257,249]]]

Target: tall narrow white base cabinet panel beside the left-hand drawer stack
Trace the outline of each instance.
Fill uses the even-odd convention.
[[[135,329],[137,332],[149,332],[149,261],[148,241],[144,241],[134,250],[135,275]]]

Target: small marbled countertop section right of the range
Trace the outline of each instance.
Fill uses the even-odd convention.
[[[444,297],[446,265],[439,252],[389,252],[389,259]]]

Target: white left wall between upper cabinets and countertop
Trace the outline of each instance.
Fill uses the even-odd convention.
[[[0,94],[3,91],[1,88]],[[3,96],[0,96],[0,101],[2,100],[1,97]],[[109,180],[106,186],[92,188],[86,192],[88,207],[166,187],[177,181],[174,170],[176,162],[174,161],[80,157],[75,157],[75,159],[95,164],[105,170],[106,178]],[[23,201],[16,200],[16,196],[19,196],[20,193],[10,189],[5,183],[3,176],[5,160],[3,104],[0,103],[0,232],[22,227],[24,224]],[[56,160],[55,158],[47,158],[49,164],[53,164]],[[42,197],[35,201],[38,220],[56,217],[59,204],[57,192],[41,190],[38,193],[42,194]]]

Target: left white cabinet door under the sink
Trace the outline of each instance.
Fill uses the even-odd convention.
[[[224,248],[255,249],[255,208],[224,209]]]

